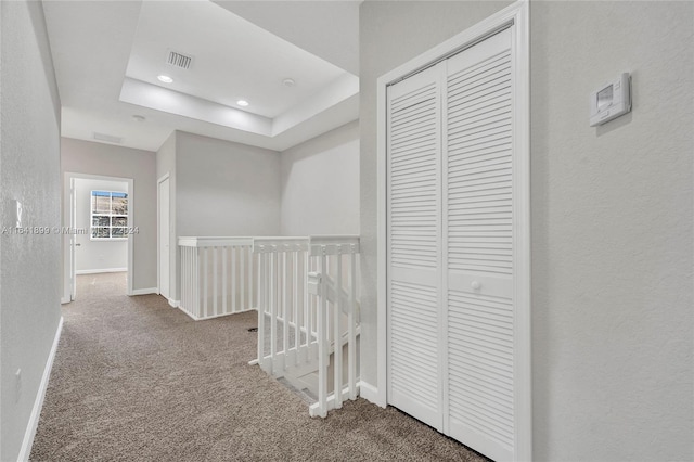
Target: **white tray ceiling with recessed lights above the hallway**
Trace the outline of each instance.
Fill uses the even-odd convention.
[[[183,130],[282,151],[351,121],[359,3],[44,1],[62,134],[156,151]],[[169,50],[191,68],[166,64]]]

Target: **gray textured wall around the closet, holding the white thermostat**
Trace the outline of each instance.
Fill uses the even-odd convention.
[[[502,3],[361,7],[362,377],[375,384],[375,80]],[[535,460],[692,460],[694,3],[531,8]],[[633,112],[588,94],[633,74]],[[378,384],[382,385],[382,384]]]

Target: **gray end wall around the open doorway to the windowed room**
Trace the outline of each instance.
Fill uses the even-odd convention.
[[[63,138],[61,145],[63,172],[133,179],[130,205],[139,232],[133,235],[133,274],[128,277],[136,291],[156,287],[156,154],[72,138]]]

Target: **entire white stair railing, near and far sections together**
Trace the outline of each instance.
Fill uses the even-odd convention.
[[[195,320],[258,310],[258,363],[317,397],[359,396],[358,236],[179,238],[181,301]]]

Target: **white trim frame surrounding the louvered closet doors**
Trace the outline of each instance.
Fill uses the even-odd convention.
[[[529,1],[519,0],[461,34],[384,74],[377,79],[377,389],[369,395],[377,405],[387,395],[387,87],[466,49],[513,25],[514,60],[514,454],[532,459],[531,339],[530,339],[530,40]]]

